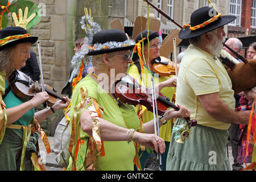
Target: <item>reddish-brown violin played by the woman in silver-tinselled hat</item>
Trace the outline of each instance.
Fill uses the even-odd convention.
[[[169,107],[179,110],[179,107],[170,102],[170,99],[168,97],[165,97],[158,90],[155,90],[155,92],[158,115],[163,115],[164,113],[166,113]],[[151,112],[154,111],[154,101],[152,101],[151,88],[139,85],[138,82],[129,75],[115,82],[114,95],[115,97],[117,97],[118,101],[122,101],[123,103],[134,106],[141,104],[147,107],[147,110],[150,110]],[[197,124],[196,119],[185,119],[189,128]]]

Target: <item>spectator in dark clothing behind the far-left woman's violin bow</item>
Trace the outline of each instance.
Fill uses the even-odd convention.
[[[40,69],[38,65],[38,59],[36,59],[36,53],[30,50],[30,58],[26,60],[26,65],[19,69],[27,76],[29,76],[33,81],[40,80]]]

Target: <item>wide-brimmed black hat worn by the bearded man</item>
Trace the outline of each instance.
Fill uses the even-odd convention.
[[[198,26],[199,24],[207,22],[207,20],[213,18],[213,16],[215,15],[217,15],[217,12],[212,7],[201,7],[200,9],[197,9],[191,14],[190,26]],[[207,24],[202,28],[198,28],[197,30],[190,30],[190,27],[187,26],[179,32],[179,38],[189,39],[199,35],[203,35],[209,31],[215,30],[216,28],[219,28],[221,26],[224,26],[225,24],[232,22],[236,18],[236,16],[230,15],[220,16],[217,20],[214,20],[213,22]]]

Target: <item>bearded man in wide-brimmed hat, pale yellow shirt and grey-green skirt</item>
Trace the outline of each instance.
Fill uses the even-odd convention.
[[[222,16],[212,7],[201,7],[191,15],[191,23],[179,32],[189,39],[177,77],[176,104],[187,107],[197,125],[184,143],[173,133],[167,156],[167,170],[230,170],[226,144],[230,123],[247,124],[249,111],[235,111],[232,82],[220,55],[239,63],[222,50],[224,25],[236,16]],[[175,126],[184,119],[177,119]],[[174,126],[174,127],[175,127]]]

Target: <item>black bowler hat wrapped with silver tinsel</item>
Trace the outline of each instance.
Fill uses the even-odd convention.
[[[133,49],[134,46],[134,40],[129,40],[125,32],[118,29],[102,30],[93,36],[92,47],[87,55],[126,51]]]

